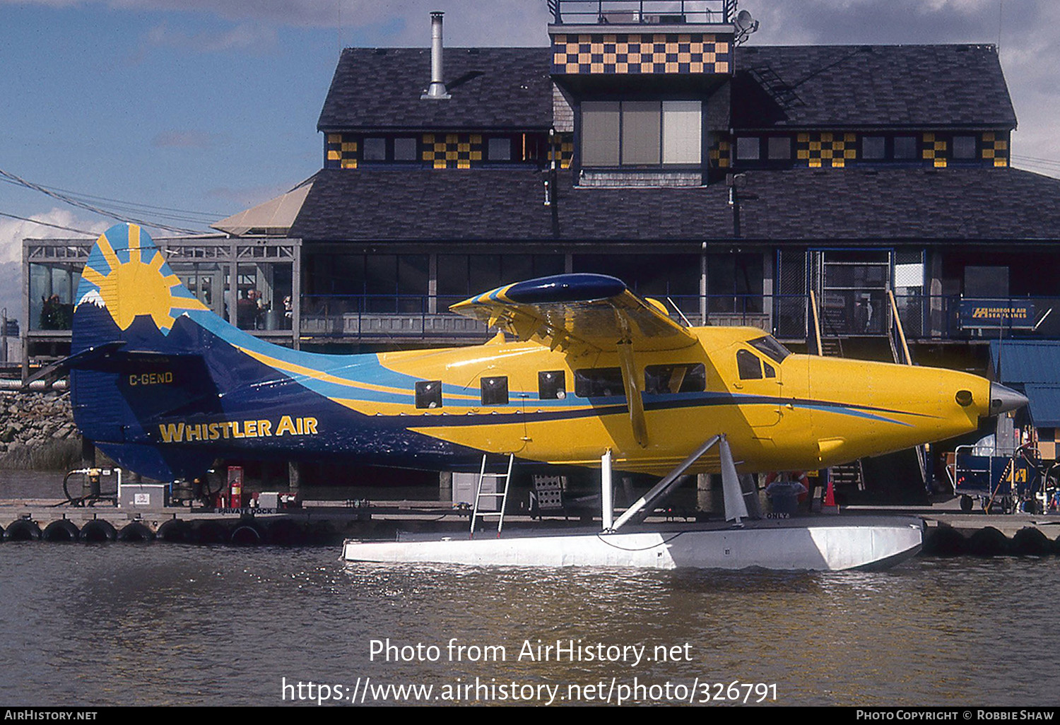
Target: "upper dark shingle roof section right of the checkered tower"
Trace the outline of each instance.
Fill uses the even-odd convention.
[[[1015,126],[993,46],[740,47],[737,129]]]

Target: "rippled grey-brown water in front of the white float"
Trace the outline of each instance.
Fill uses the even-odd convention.
[[[776,684],[766,702],[775,692],[782,705],[1056,702],[1057,558],[781,574],[346,566],[338,553],[0,545],[4,704],[281,705],[284,682],[289,702],[298,682],[326,684],[329,694],[342,685],[348,697],[358,677],[358,693],[371,677],[373,687],[431,686],[435,702],[476,677],[494,687],[479,701],[515,683],[516,694],[559,686],[558,701],[586,702],[595,690],[569,686],[601,680],[612,702],[622,686],[636,694],[635,683],[641,702],[665,702],[667,683],[688,701],[720,691],[705,684],[740,680]],[[387,638],[412,661],[373,660],[372,640]],[[464,661],[450,661],[450,639],[479,654],[502,646],[506,660],[466,661],[464,650]],[[594,651],[643,644],[646,658],[665,646],[677,661],[637,664],[630,650],[630,661],[520,660],[524,642],[538,639]],[[420,659],[438,661],[419,661],[418,643]],[[547,701],[544,690],[531,700]]]

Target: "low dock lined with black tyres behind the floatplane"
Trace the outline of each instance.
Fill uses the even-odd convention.
[[[1060,515],[962,513],[939,507],[850,507],[838,516],[919,516],[926,521],[931,555],[1060,554]],[[59,499],[0,500],[4,541],[151,542],[187,544],[337,545],[344,538],[390,538],[398,530],[466,532],[470,512],[439,501],[303,501],[289,509],[222,509],[171,506],[119,508],[70,506]],[[832,514],[819,514],[832,515]],[[670,517],[673,520],[673,517]],[[681,517],[677,517],[679,520]],[[666,520],[650,517],[649,520]],[[561,529],[579,521],[532,520],[507,514],[510,528]],[[584,526],[584,524],[582,524]]]

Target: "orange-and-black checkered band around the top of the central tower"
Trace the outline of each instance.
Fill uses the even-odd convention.
[[[711,33],[552,36],[552,73],[731,73],[732,42]]]

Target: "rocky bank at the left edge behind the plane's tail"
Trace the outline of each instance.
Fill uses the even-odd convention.
[[[68,471],[80,462],[68,391],[0,391],[0,467]]]

